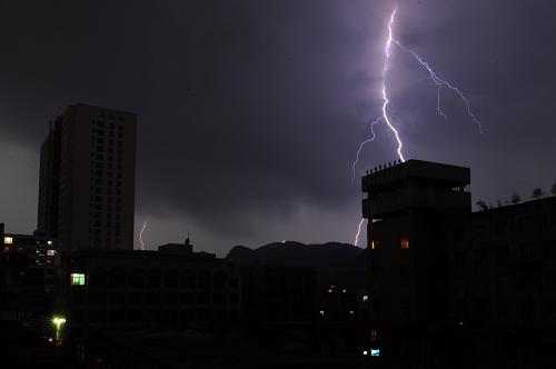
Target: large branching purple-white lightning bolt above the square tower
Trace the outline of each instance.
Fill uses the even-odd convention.
[[[448,119],[448,116],[441,109],[441,103],[440,103],[441,90],[443,90],[443,88],[447,88],[447,89],[454,91],[461,99],[461,101],[465,103],[465,106],[467,108],[467,114],[477,124],[479,132],[483,133],[483,124],[480,123],[480,120],[477,118],[477,116],[471,111],[469,99],[467,99],[467,97],[463,93],[463,91],[458,87],[454,86],[453,83],[438,77],[438,74],[433,69],[433,67],[430,67],[430,64],[427,61],[425,61],[417,52],[415,52],[414,50],[411,50],[409,48],[406,48],[404,44],[401,44],[401,42],[399,40],[394,38],[393,24],[394,24],[394,21],[396,19],[397,11],[398,11],[398,7],[396,6],[396,8],[391,12],[390,19],[388,21],[388,38],[386,40],[386,44],[384,48],[385,62],[384,62],[384,68],[383,68],[383,114],[380,117],[376,118],[375,121],[370,124],[370,130],[373,132],[373,137],[363,141],[359,144],[359,149],[357,150],[357,156],[351,164],[351,186],[355,182],[356,166],[359,162],[359,156],[361,153],[361,150],[365,147],[365,144],[375,140],[376,136],[375,136],[374,126],[381,120],[384,120],[386,122],[387,127],[394,132],[394,136],[396,138],[397,143],[398,143],[398,148],[397,148],[396,152],[398,153],[399,159],[401,161],[406,161],[406,159],[404,158],[404,153],[401,152],[404,144],[401,142],[401,139],[399,138],[398,131],[396,130],[396,128],[394,127],[394,124],[390,121],[390,118],[388,117],[388,104],[389,104],[390,100],[388,98],[388,90],[386,87],[386,77],[388,73],[388,61],[390,59],[391,43],[396,44],[403,51],[409,53],[428,72],[430,80],[437,86],[437,111],[438,111],[438,114],[440,114],[444,119]],[[359,225],[357,227],[357,233],[355,237],[355,245],[356,246],[359,241],[359,236],[361,232],[361,225],[363,225],[364,220],[365,219],[361,219],[361,221],[359,222]]]

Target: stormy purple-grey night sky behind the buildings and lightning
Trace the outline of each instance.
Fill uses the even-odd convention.
[[[235,245],[353,242],[351,161],[381,111],[393,1],[0,1],[0,222],[36,228],[39,149],[69,103],[138,114],[136,232],[222,256]],[[406,159],[471,168],[474,202],[556,181],[556,3],[399,1],[394,32],[469,98],[393,48]],[[393,161],[385,124],[358,174]]]

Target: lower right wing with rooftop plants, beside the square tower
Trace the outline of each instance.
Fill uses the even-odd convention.
[[[556,197],[474,212],[454,250],[454,309],[475,326],[556,328]]]

